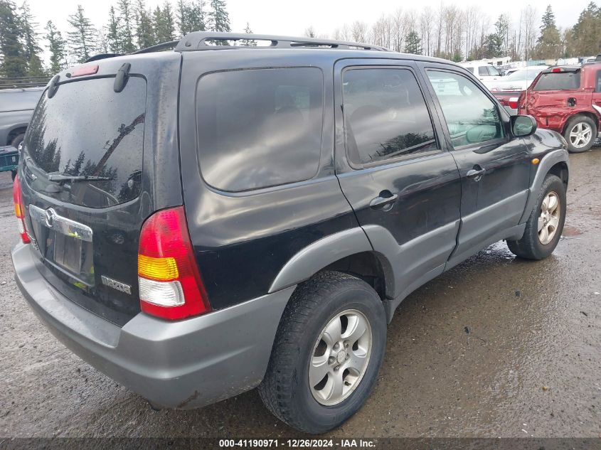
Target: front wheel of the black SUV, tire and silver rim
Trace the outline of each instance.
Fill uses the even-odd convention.
[[[555,201],[558,204],[554,207]],[[544,259],[553,253],[565,222],[565,185],[555,175],[548,175],[538,193],[536,204],[520,240],[508,240],[507,247],[524,259]]]

